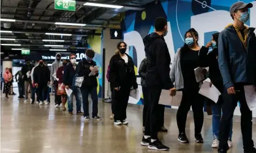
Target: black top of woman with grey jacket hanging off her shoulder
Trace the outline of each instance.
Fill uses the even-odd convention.
[[[199,67],[199,51],[188,49],[181,52],[181,73],[183,74],[184,87],[198,87],[195,79],[195,68]]]

